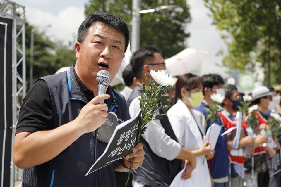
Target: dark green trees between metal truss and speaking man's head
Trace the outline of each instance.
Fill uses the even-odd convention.
[[[26,58],[26,80],[29,81],[30,68],[30,46],[31,30],[34,26],[28,22],[25,23],[25,58]],[[21,35],[18,43],[21,46]],[[20,59],[21,55],[18,54]],[[34,32],[34,50],[33,50],[33,82],[38,78],[52,75],[59,68],[75,64],[75,51],[62,44],[61,41],[52,42],[44,32]],[[21,66],[21,64],[20,64]],[[19,67],[18,69],[21,69]]]

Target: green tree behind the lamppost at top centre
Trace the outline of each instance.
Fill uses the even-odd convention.
[[[190,36],[185,32],[186,24],[191,21],[189,6],[185,0],[142,0],[141,10],[174,4],[181,10],[163,13],[141,14],[140,47],[158,46],[164,58],[171,57],[186,48],[185,40]],[[85,5],[85,14],[106,12],[124,19],[128,25],[132,20],[132,0],[90,0]]]

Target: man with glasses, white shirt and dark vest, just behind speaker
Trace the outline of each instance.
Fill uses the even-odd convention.
[[[142,83],[149,85],[146,76],[154,79],[158,84],[166,86],[172,84],[171,76],[165,75],[165,60],[159,50],[154,46],[145,46],[136,51],[130,61],[137,77],[138,85],[133,89],[128,99],[128,108],[131,117],[140,110],[140,95]],[[173,83],[174,84],[174,83]],[[156,114],[165,114],[163,109]],[[146,131],[140,136],[140,142],[145,150],[145,159],[142,167],[133,171],[134,187],[169,187],[174,177],[181,171],[182,160],[186,160],[186,171],[182,179],[191,177],[192,170],[196,167],[194,154],[181,147],[171,127],[167,115],[163,119],[151,121],[146,124]]]

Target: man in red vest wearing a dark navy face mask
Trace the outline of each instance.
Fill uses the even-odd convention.
[[[233,113],[239,110],[238,106],[241,106],[240,100],[238,99],[239,93],[234,85],[224,85],[225,99],[222,103],[223,111],[218,112],[222,120],[222,124],[227,128],[236,126],[236,119]],[[247,127],[246,123],[242,123],[243,131],[241,131],[239,148],[234,149],[232,147],[233,137],[227,136],[227,144],[230,157],[230,173],[231,173],[231,185],[237,187],[244,186],[244,146],[253,146],[255,139],[250,136],[246,136],[245,131]],[[233,132],[233,131],[232,131]],[[234,135],[235,136],[235,135]],[[243,137],[244,136],[244,137]]]

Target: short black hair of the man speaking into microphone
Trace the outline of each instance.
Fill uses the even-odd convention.
[[[77,41],[80,43],[84,41],[85,37],[88,34],[88,29],[95,22],[102,22],[105,25],[108,25],[109,27],[112,27],[115,30],[119,31],[125,36],[125,53],[129,45],[130,32],[126,25],[126,22],[124,22],[124,20],[122,20],[116,15],[102,12],[88,15],[87,18],[85,18],[85,20],[81,23],[80,27],[78,28]]]

